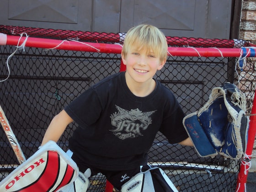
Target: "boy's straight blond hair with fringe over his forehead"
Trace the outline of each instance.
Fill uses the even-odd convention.
[[[167,58],[168,45],[166,37],[157,27],[140,24],[131,28],[124,39],[123,56],[126,57],[131,48],[146,48],[148,52],[153,51],[160,57],[160,61]]]

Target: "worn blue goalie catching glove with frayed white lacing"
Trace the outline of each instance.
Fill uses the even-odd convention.
[[[184,117],[183,125],[202,157],[223,155],[240,159],[245,153],[249,118],[245,95],[231,83],[213,88],[198,111]]]

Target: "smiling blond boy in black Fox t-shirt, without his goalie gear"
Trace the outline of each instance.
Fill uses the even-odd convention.
[[[192,146],[175,96],[153,78],[165,64],[167,48],[158,28],[131,28],[122,50],[126,71],[101,80],[66,106],[49,124],[42,145],[57,142],[75,121],[69,149],[79,170],[101,172],[119,190],[147,164],[158,131],[171,144]]]

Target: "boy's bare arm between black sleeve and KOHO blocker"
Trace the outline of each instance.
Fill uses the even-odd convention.
[[[57,142],[64,133],[66,127],[69,123],[72,123],[73,119],[68,115],[67,112],[62,110],[58,115],[53,117],[51,123],[49,124],[41,145],[46,144],[49,140]]]

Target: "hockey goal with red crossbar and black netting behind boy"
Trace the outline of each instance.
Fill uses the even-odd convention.
[[[0,33],[13,38],[0,46],[0,105],[26,158],[37,151],[48,124],[64,106],[91,85],[124,70],[120,50],[125,33],[13,26],[0,26]],[[201,108],[213,87],[229,81],[245,92],[246,114],[251,115],[256,58],[255,49],[248,47],[253,44],[166,38],[170,55],[155,79],[174,92],[186,114]],[[74,128],[70,125],[59,140],[62,149],[67,150]],[[1,181],[19,162],[3,129],[0,138]],[[149,164],[165,170],[180,191],[235,191],[241,161],[202,158],[192,147],[168,144],[158,133]],[[104,191],[105,185],[105,177],[99,174],[91,179],[89,191]]]

